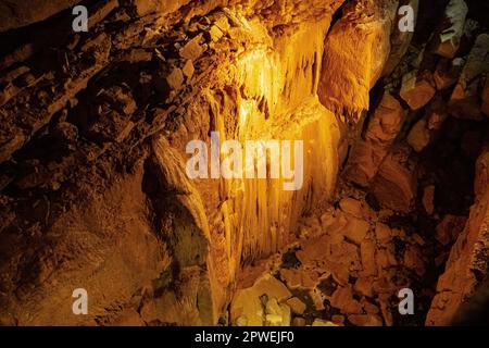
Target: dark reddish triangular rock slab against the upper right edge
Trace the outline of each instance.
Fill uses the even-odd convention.
[[[481,87],[485,75],[489,71],[489,35],[481,34],[467,58],[459,83],[449,102],[449,111],[453,116],[471,120],[482,120]]]

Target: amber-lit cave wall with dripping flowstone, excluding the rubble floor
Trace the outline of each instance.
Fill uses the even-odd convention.
[[[87,34],[50,17],[73,1],[37,2],[34,13],[0,1],[14,14],[0,27],[1,323],[216,324],[242,268],[286,247],[301,216],[330,206],[339,179],[393,211],[415,208],[410,146],[423,144],[396,140],[438,86],[418,78],[424,44],[396,27],[399,5],[418,1],[93,1]],[[474,104],[474,95],[484,89],[477,57],[452,98],[462,109]],[[210,145],[211,132],[304,139],[303,189],[188,179],[186,144]],[[449,323],[453,312],[439,311],[484,278],[484,163],[429,324]],[[467,278],[452,282],[460,272]],[[89,290],[87,316],[63,304],[75,287]]]

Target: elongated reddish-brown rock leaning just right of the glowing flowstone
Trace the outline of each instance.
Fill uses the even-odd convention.
[[[368,123],[365,139],[353,147],[346,169],[349,181],[368,185],[401,130],[404,116],[400,102],[386,92]]]

